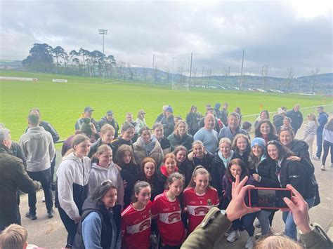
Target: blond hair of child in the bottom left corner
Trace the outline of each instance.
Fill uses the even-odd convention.
[[[23,248],[27,242],[27,229],[18,224],[11,224],[0,234],[0,248]]]

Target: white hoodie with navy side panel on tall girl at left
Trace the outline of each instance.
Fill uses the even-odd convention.
[[[57,171],[58,199],[60,207],[72,220],[80,216],[79,209],[81,210],[86,199],[90,168],[89,157],[84,156],[79,159],[73,153],[63,157],[63,161],[59,165]]]

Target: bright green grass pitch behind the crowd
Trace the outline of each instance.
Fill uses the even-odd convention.
[[[161,113],[162,105],[171,105],[174,115],[185,118],[191,105],[196,105],[200,112],[204,112],[205,105],[214,105],[216,102],[229,102],[230,112],[240,107],[243,115],[259,113],[260,105],[275,112],[282,105],[290,109],[296,103],[301,107],[332,104],[331,99],[322,96],[268,95],[197,88],[186,92],[171,90],[170,86],[152,87],[118,79],[106,79],[105,84],[102,79],[96,78],[30,72],[0,71],[0,76],[38,78],[37,83],[0,81],[0,123],[11,130],[16,141],[25,131],[27,114],[34,107],[40,109],[42,119],[52,123],[60,133],[60,139],[64,140],[74,133],[74,123],[86,106],[95,109],[93,117],[96,120],[112,109],[119,124],[124,122],[126,112],[133,112],[136,118],[138,110],[144,109],[148,126],[152,126]],[[68,83],[53,83],[52,79],[67,79]]]

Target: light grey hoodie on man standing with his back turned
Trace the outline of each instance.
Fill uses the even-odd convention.
[[[55,149],[51,133],[33,127],[20,137],[20,147],[27,158],[27,171],[37,172],[51,167]]]

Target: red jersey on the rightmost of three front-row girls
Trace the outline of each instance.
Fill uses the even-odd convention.
[[[188,208],[188,234],[190,234],[201,222],[209,209],[218,206],[220,200],[216,189],[207,187],[206,193],[200,195],[195,189],[188,187],[183,191],[184,203]]]

